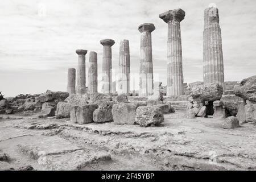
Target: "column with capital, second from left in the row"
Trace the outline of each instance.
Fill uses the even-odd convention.
[[[85,94],[85,55],[87,50],[78,49],[76,53],[79,55],[78,65],[77,65],[77,85],[76,94]]]

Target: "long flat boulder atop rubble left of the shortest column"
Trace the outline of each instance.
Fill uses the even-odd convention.
[[[46,93],[42,93],[38,97],[36,97],[36,100],[42,103],[55,100],[64,101],[65,98],[67,98],[68,96],[68,92],[52,92],[50,90],[47,90]]]

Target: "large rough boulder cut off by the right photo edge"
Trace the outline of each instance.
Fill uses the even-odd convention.
[[[256,75],[243,79],[234,86],[234,94],[256,104]]]

